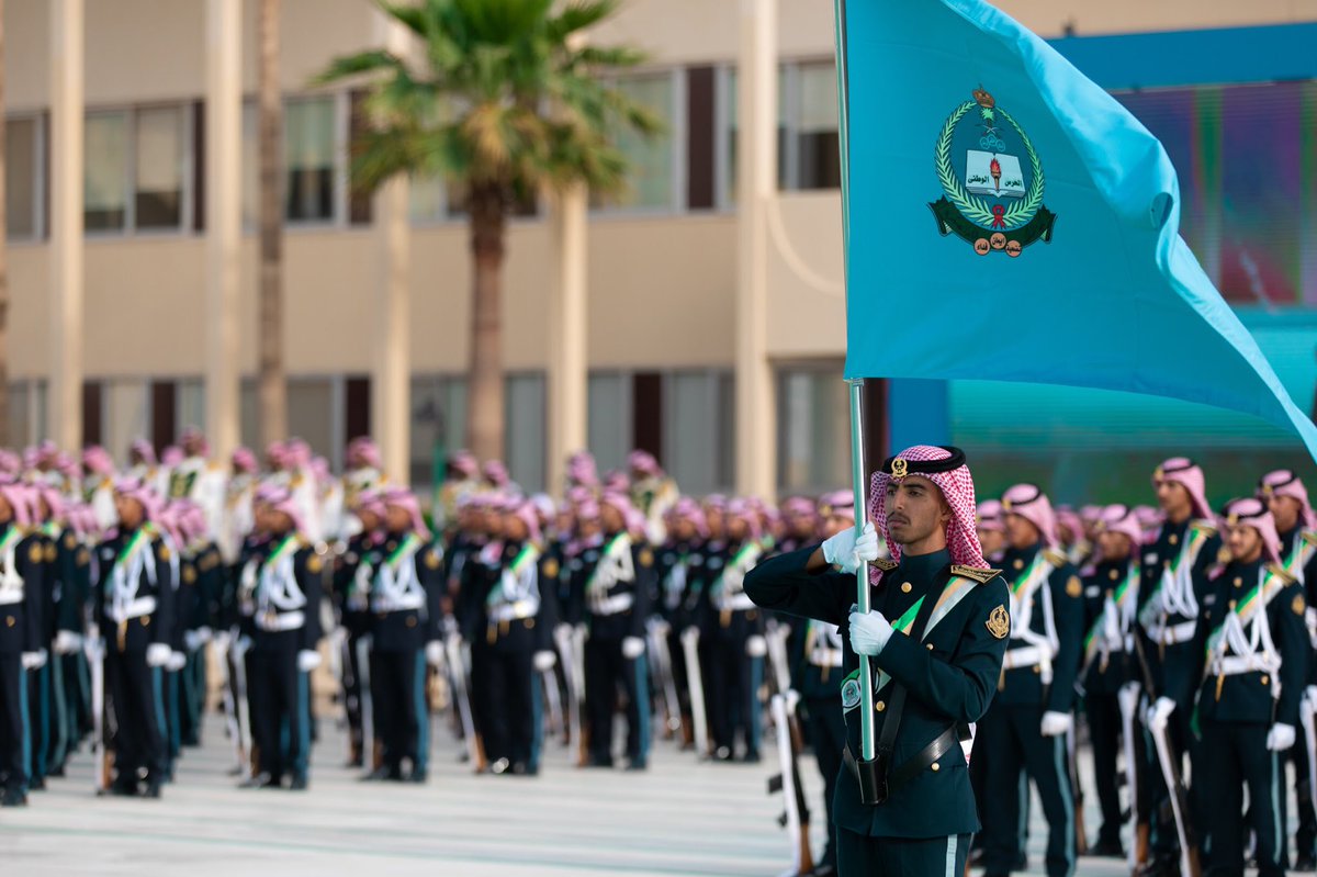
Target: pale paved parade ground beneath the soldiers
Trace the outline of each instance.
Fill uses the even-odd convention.
[[[586,772],[554,744],[537,778],[477,777],[458,762],[452,737],[437,736],[429,785],[361,784],[338,766],[342,736],[325,723],[306,794],[236,789],[217,723],[161,802],[97,799],[82,756],[67,778],[33,794],[29,809],[0,811],[0,872],[769,877],[789,864],[786,832],[774,822],[781,798],[765,794],[770,764],[695,764],[660,741],[645,774]],[[817,801],[817,772],[806,781]],[[1088,824],[1096,830],[1096,814]],[[815,835],[819,849],[818,824]],[[1035,824],[1030,874],[1042,873],[1044,837]],[[1129,872],[1081,860],[1077,873]]]

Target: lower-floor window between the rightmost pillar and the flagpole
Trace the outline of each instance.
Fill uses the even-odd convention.
[[[777,374],[777,485],[823,494],[851,482],[849,396],[840,363]]]

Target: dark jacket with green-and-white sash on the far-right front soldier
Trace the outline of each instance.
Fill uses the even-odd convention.
[[[1275,593],[1267,602],[1266,622],[1271,640],[1280,656],[1280,669],[1275,672],[1251,670],[1217,678],[1208,654],[1213,633],[1226,620],[1226,615],[1239,606],[1258,585],[1259,573],[1275,575]],[[1283,569],[1252,564],[1230,562],[1210,581],[1204,582],[1205,600],[1193,653],[1198,656],[1198,718],[1213,722],[1249,722],[1271,724],[1281,722],[1299,727],[1299,701],[1308,678],[1308,631],[1304,627],[1304,589]],[[1250,623],[1245,632],[1250,632]],[[1234,654],[1229,649],[1226,654]],[[1217,685],[1220,682],[1220,697]],[[1280,686],[1279,698],[1276,686]]]

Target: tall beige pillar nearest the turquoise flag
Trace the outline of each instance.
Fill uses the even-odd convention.
[[[736,492],[776,494],[765,217],[777,198],[777,0],[740,0],[738,66]]]

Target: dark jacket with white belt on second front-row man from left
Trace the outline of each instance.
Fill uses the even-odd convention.
[[[96,549],[96,619],[111,651],[145,652],[154,643],[174,645],[174,554],[159,533],[146,529],[145,544],[122,564],[124,591],[119,593],[116,564],[137,532],[115,531]],[[146,607],[151,608],[138,614]]]

